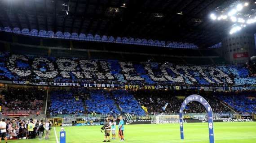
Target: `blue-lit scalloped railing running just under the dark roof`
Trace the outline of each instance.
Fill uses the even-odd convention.
[[[132,45],[144,45],[144,46],[158,46],[158,47],[169,47],[169,48],[185,48],[185,49],[198,49],[193,43],[182,43],[182,42],[166,42],[152,39],[140,39],[140,38],[126,38],[126,37],[116,37],[113,36],[100,36],[93,34],[77,34],[77,33],[62,33],[58,31],[54,33],[53,31],[45,31],[37,29],[19,29],[11,27],[0,27],[0,31],[5,31],[9,33],[43,37],[43,38],[58,38],[58,39],[70,39],[70,40],[81,40],[81,41],[95,41],[95,42],[112,42],[121,44],[132,44]]]

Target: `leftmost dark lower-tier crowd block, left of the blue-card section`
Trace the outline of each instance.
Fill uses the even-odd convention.
[[[8,87],[1,92],[2,110],[40,111],[45,96],[44,89]]]

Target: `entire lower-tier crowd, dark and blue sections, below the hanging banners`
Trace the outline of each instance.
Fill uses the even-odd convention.
[[[214,113],[256,113],[255,92],[206,92],[203,90],[99,90],[87,88],[53,89],[49,113],[56,114],[178,114],[185,97],[203,96]],[[1,92],[3,110],[40,111],[46,91],[39,88],[8,87]],[[147,113],[141,106],[145,106]],[[231,107],[230,108],[228,108]],[[189,103],[185,113],[206,112],[203,105]]]

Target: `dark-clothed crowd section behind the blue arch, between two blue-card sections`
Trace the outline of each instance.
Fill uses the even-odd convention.
[[[148,114],[178,114],[181,104],[185,97],[199,94],[203,96],[211,105],[214,113],[230,113],[230,109],[223,105],[217,99],[217,94],[214,92],[203,92],[195,90],[138,90],[133,92],[137,101],[147,107]],[[163,108],[166,104],[166,108]],[[184,110],[184,113],[202,113],[207,112],[202,104],[198,102],[190,102]]]

